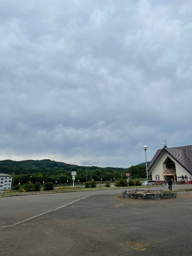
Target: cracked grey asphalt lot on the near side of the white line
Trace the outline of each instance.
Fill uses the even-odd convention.
[[[119,190],[99,191],[1,227],[0,251],[13,256],[191,256],[191,216],[192,192],[178,192],[176,199],[145,201],[122,198]]]

